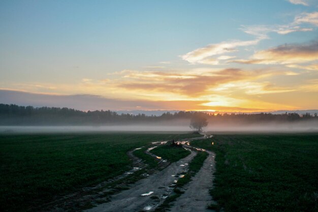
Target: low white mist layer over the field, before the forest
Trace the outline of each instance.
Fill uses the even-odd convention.
[[[189,120],[174,120],[147,124],[110,126],[0,126],[0,133],[85,133],[85,132],[191,132]],[[308,120],[298,123],[260,123],[260,124],[217,124],[209,123],[204,132],[318,132],[318,121]]]

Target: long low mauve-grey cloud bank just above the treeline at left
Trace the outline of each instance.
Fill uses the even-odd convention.
[[[120,100],[104,98],[98,95],[50,95],[0,89],[3,104],[17,104],[35,107],[68,107],[78,110],[208,110],[211,107],[202,104],[208,101],[149,101]],[[238,107],[235,107],[238,108]],[[228,109],[231,109],[230,107]],[[241,108],[242,111],[252,110]]]

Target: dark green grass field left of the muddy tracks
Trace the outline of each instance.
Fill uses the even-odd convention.
[[[99,133],[0,136],[0,210],[24,211],[130,169],[126,152],[196,135]]]

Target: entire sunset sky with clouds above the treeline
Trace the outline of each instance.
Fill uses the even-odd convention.
[[[0,103],[318,108],[318,0],[0,2]]]

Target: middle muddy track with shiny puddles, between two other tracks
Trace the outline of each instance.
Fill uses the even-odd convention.
[[[152,210],[157,205],[160,205],[172,192],[175,180],[177,179],[175,175],[186,171],[187,166],[185,164],[191,161],[196,154],[195,151],[191,151],[191,154],[184,159],[170,164],[170,166],[160,172],[139,180],[131,189],[113,195],[111,202],[100,204],[86,211],[133,212]]]

